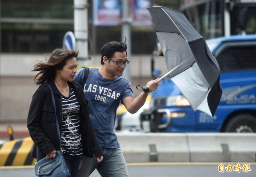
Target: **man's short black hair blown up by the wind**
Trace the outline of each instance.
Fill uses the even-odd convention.
[[[125,42],[126,42],[126,37],[125,37]],[[127,56],[127,45],[125,42],[117,42],[117,41],[111,41],[109,43],[106,43],[103,47],[102,47],[102,57],[101,57],[101,61],[100,63],[103,65],[103,57],[107,57],[107,58],[111,58],[113,57],[114,53],[116,51],[125,51],[126,56]]]

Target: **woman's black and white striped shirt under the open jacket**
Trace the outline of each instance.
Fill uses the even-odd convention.
[[[70,95],[62,99],[62,132],[61,146],[69,155],[82,154],[82,140],[79,132],[79,110],[80,104],[76,98],[73,88],[70,86]]]

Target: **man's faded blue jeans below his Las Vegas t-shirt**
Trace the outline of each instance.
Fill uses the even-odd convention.
[[[121,148],[104,148],[104,159],[101,163],[97,158],[81,156],[77,177],[88,177],[97,168],[102,177],[128,177],[125,158]]]

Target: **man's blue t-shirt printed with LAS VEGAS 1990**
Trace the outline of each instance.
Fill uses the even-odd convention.
[[[122,99],[134,97],[131,83],[122,76],[113,80],[103,78],[96,67],[89,69],[89,76],[82,87],[96,136],[102,148],[119,148],[114,133],[116,109]],[[81,84],[83,78],[84,68],[77,71],[74,81]]]

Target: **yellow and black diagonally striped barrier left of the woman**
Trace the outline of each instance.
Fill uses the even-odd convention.
[[[30,137],[0,144],[0,166],[35,165],[36,159],[30,156],[33,145]]]

